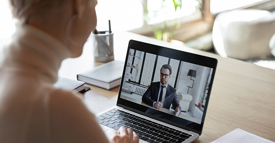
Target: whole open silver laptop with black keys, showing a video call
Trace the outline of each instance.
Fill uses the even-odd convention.
[[[125,126],[138,134],[139,143],[191,143],[202,133],[217,63],[130,40],[116,106],[96,118],[109,138],[111,130]],[[166,74],[167,65],[171,72]],[[163,100],[157,99],[160,83],[167,86]],[[156,102],[163,106],[158,109]]]

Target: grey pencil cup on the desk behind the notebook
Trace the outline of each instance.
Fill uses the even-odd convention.
[[[109,62],[113,56],[113,32],[100,31],[98,34],[92,33],[93,56],[96,62]]]

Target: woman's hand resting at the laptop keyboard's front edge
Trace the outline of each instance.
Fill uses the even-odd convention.
[[[110,143],[138,143],[138,135],[132,129],[126,129],[124,126],[120,127],[118,131],[110,132]]]

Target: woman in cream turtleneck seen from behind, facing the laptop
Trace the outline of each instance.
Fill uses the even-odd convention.
[[[0,61],[0,143],[109,143],[83,101],[55,89],[62,60],[78,57],[96,26],[96,0],[9,0],[19,20]],[[138,143],[132,129],[111,143]]]

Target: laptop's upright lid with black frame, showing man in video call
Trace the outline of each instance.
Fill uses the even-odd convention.
[[[214,58],[131,40],[117,105],[201,134]]]

